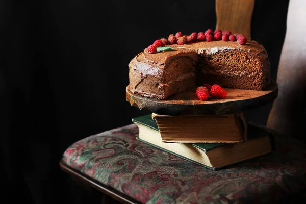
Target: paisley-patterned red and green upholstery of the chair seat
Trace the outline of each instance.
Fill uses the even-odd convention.
[[[141,203],[279,203],[305,192],[306,147],[292,138],[276,137],[272,154],[213,171],[137,134],[131,124],[87,137],[64,152],[63,162]]]

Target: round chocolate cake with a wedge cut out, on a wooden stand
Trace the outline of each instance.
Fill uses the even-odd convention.
[[[219,40],[167,46],[174,50],[151,54],[145,49],[130,62],[132,93],[167,99],[203,84],[249,90],[269,86],[268,55],[256,41],[239,44]]]

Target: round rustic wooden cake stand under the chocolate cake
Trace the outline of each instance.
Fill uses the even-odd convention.
[[[126,100],[140,110],[167,115],[232,114],[271,103],[277,97],[277,84],[272,81],[263,91],[225,88],[226,99],[208,98],[201,101],[195,89],[187,90],[166,100],[152,99],[133,94],[126,87]]]

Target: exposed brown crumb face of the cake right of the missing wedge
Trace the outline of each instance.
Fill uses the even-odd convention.
[[[245,51],[230,49],[201,55],[199,59],[200,83],[219,84],[236,89],[263,89],[263,62]]]

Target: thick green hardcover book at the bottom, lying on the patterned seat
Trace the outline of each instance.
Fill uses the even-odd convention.
[[[271,135],[248,125],[248,140],[240,143],[165,143],[151,115],[133,118],[139,127],[137,139],[201,166],[216,170],[272,151]]]

